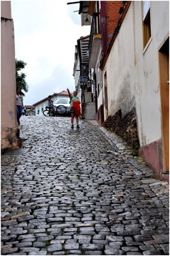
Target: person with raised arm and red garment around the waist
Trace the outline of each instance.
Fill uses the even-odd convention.
[[[79,126],[79,115],[81,115],[80,112],[80,99],[77,97],[78,92],[77,91],[73,91],[73,95],[70,93],[69,89],[67,88],[67,91],[69,93],[69,98],[70,98],[70,112],[71,112],[71,129],[73,129],[73,120],[75,117],[76,120],[76,124],[77,124],[77,128],[80,129]]]

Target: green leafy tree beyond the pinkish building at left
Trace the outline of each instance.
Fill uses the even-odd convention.
[[[23,96],[25,96],[23,91],[27,92],[29,90],[29,86],[25,80],[26,74],[21,72],[26,65],[27,63],[24,61],[16,59],[16,87],[21,89]]]

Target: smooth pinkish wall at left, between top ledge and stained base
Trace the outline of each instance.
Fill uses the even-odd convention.
[[[13,20],[1,20],[1,126],[16,126],[16,74]]]

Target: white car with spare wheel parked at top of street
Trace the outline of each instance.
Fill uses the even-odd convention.
[[[69,114],[70,113],[70,98],[56,98],[54,100],[54,106],[56,106],[56,111],[58,114]]]

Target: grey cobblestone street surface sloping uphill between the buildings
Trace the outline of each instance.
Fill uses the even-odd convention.
[[[1,155],[1,255],[169,255],[169,184],[116,135],[21,117]]]

